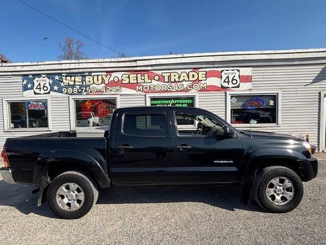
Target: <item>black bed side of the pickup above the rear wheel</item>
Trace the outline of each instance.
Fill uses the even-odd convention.
[[[77,137],[75,131],[9,138],[5,149],[16,182],[39,185],[37,177],[50,165],[82,161],[100,166],[107,173],[106,139]],[[57,157],[60,156],[60,157]]]

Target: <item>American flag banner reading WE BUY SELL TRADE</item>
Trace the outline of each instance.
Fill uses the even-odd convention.
[[[251,83],[251,67],[22,76],[24,96],[216,92],[251,89]]]

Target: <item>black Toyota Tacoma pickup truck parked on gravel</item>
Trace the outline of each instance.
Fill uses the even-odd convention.
[[[308,142],[289,135],[237,131],[192,107],[119,108],[101,138],[57,132],[7,139],[1,175],[37,186],[61,217],[79,218],[98,188],[127,185],[234,184],[272,212],[293,210],[302,181],[316,177]]]

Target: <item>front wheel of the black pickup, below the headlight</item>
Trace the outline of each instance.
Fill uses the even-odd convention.
[[[276,185],[277,181],[280,184]],[[292,187],[287,187],[290,185]],[[282,188],[285,188],[286,191],[283,192]],[[270,166],[261,169],[253,188],[255,201],[266,211],[276,213],[286,213],[295,209],[300,204],[303,193],[304,187],[300,177],[291,169],[283,166]]]

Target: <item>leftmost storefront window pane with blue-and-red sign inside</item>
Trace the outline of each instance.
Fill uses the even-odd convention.
[[[9,128],[48,128],[47,101],[9,102]]]

